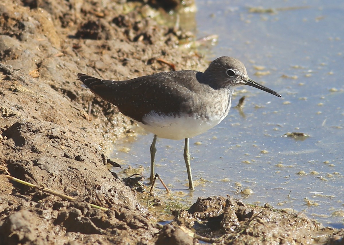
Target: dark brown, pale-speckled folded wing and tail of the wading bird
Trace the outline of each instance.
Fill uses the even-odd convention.
[[[114,104],[124,115],[142,122],[154,110],[158,114],[189,113],[194,106],[193,88],[202,86],[193,81],[197,71],[161,72],[126,81],[102,80],[85,74],[78,78],[93,93]],[[203,85],[204,86],[204,85]]]

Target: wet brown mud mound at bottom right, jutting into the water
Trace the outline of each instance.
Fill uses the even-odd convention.
[[[342,244],[344,234],[302,213],[249,205],[229,196],[198,198],[171,224],[193,230],[194,237],[212,244]]]

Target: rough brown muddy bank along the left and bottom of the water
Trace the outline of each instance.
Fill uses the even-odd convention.
[[[157,59],[177,70],[206,62],[179,48],[189,34],[145,17],[151,7],[101,3],[0,3],[0,244],[344,244],[342,230],[231,198],[199,199],[171,224],[156,223],[102,157],[131,122],[76,73],[127,79],[172,68]],[[6,169],[76,200],[9,181]]]

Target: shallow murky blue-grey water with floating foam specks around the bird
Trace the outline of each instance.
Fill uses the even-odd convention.
[[[209,60],[239,58],[250,78],[282,98],[240,87],[232,105],[245,95],[242,111],[231,108],[221,124],[190,139],[195,191],[187,190],[183,141],[158,139],[155,171],[175,193],[186,193],[186,203],[198,196],[229,194],[248,203],[292,208],[343,228],[344,2],[196,4],[198,37],[219,35]],[[259,6],[275,11],[249,12],[248,7]],[[287,132],[309,137],[287,137]],[[144,166],[149,177],[152,138],[124,139],[112,157],[124,159],[123,167]],[[254,193],[240,194],[246,188]]]

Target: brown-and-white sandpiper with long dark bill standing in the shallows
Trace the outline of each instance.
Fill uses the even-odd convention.
[[[245,65],[228,56],[216,58],[204,72],[168,71],[122,81],[82,73],[77,76],[84,87],[117,106],[123,115],[154,134],[150,146],[149,183],[154,178],[157,138],[185,140],[183,156],[190,190],[194,190],[194,183],[189,138],[213,128],[228,115],[234,88],[248,85],[281,97],[250,79]]]

